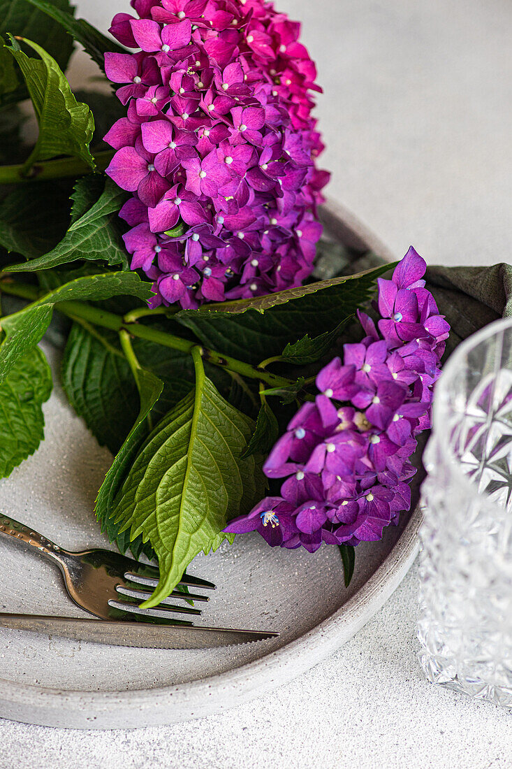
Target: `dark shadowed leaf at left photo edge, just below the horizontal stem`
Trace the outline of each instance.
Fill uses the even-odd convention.
[[[0,245],[26,258],[37,258],[62,238],[68,208],[63,185],[54,181],[19,185],[0,203]]]

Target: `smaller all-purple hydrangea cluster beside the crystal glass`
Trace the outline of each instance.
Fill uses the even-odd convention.
[[[264,472],[286,478],[224,531],[259,531],[271,545],[318,550],[382,537],[411,506],[415,436],[431,426],[432,388],[450,330],[424,288],[426,264],[414,248],[379,279],[375,325],[346,344],[318,374],[320,394],[306,402],[274,445]]]

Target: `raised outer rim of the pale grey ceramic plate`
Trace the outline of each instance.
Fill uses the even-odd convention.
[[[387,246],[344,206],[328,200],[321,218],[345,245],[394,261]],[[257,660],[198,681],[128,691],[65,690],[0,678],[0,717],[79,729],[158,726],[226,711],[288,683],[349,641],[384,605],[416,558],[422,518],[417,505],[391,552],[337,611]]]

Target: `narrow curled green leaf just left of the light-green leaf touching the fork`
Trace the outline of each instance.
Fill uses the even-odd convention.
[[[108,538],[118,544],[118,548],[125,552],[130,547],[135,558],[143,551],[144,543],[142,537],[131,538],[129,531],[121,532],[121,524],[116,523],[112,511],[114,509],[114,500],[118,494],[121,484],[125,481],[128,469],[133,462],[141,441],[147,434],[146,420],[151,409],[158,401],[162,390],[162,383],[149,371],[139,369],[136,371],[137,388],[139,392],[140,408],[135,424],[131,428],[124,444],[118,451],[111,468],[105,476],[105,481],[101,484],[96,498],[95,513],[96,518],[101,524],[101,531],[106,531]]]

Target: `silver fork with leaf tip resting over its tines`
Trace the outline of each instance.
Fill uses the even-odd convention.
[[[0,535],[28,544],[35,551],[58,564],[68,594],[82,609],[105,620],[140,619],[146,622],[172,621],[172,624],[191,625],[190,621],[174,619],[175,614],[201,614],[191,606],[176,606],[172,599],[208,601],[201,594],[192,594],[188,588],[214,590],[212,582],[184,574],[169,598],[157,607],[141,609],[138,604],[149,598],[158,584],[158,568],[142,564],[110,550],[84,550],[79,553],[59,548],[58,544],[38,534],[33,528],[0,514]],[[135,615],[135,617],[134,617]]]

